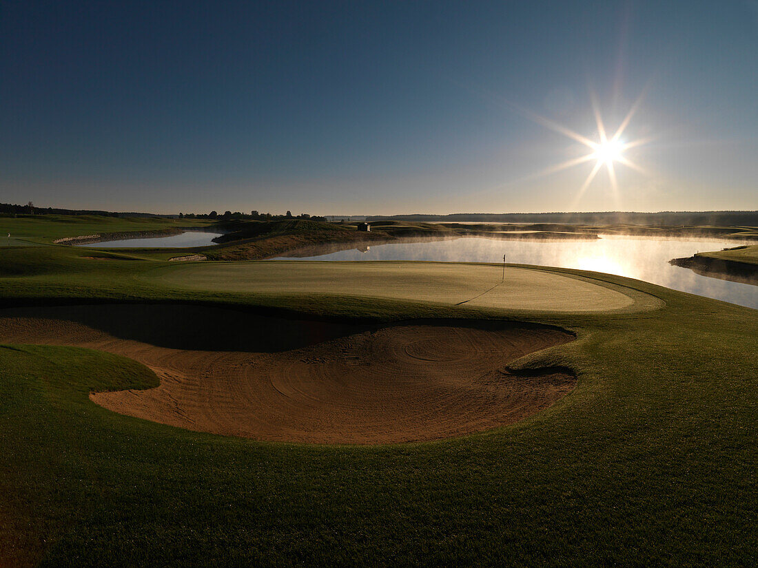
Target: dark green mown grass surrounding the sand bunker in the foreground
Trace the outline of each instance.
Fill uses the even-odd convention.
[[[480,435],[374,447],[253,442],[92,404],[145,388],[123,357],[0,348],[0,565],[753,566],[758,312],[618,276],[654,311],[508,314],[423,301],[181,291],[155,261],[0,251],[4,305],[183,301],[342,319],[522,317],[578,333],[559,403]],[[565,270],[565,273],[578,271]],[[584,273],[586,276],[587,273]]]

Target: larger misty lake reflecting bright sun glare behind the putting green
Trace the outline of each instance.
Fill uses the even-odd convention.
[[[700,276],[688,268],[669,264],[672,258],[691,257],[696,252],[719,251],[744,242],[727,239],[660,239],[601,235],[591,241],[527,241],[463,237],[437,242],[399,242],[371,245],[302,261],[456,261],[537,264],[619,274],[681,292],[690,292],[758,308],[758,287]],[[280,257],[285,258],[285,257]]]

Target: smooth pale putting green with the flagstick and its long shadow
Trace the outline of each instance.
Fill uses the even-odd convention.
[[[653,296],[581,276],[453,263],[236,262],[160,268],[143,276],[174,289],[266,295],[339,295],[529,311],[659,307]]]

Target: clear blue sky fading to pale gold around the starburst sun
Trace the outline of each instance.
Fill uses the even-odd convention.
[[[0,73],[0,202],[758,209],[758,0],[6,0]],[[634,107],[615,184],[556,168],[593,98],[609,136]]]

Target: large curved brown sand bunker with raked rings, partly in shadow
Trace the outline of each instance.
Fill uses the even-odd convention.
[[[515,423],[568,394],[576,381],[562,372],[516,376],[506,365],[572,339],[519,323],[368,328],[192,306],[0,311],[0,342],[95,348],[160,376],[156,389],[92,393],[103,407],[191,430],[287,442],[409,442]]]

